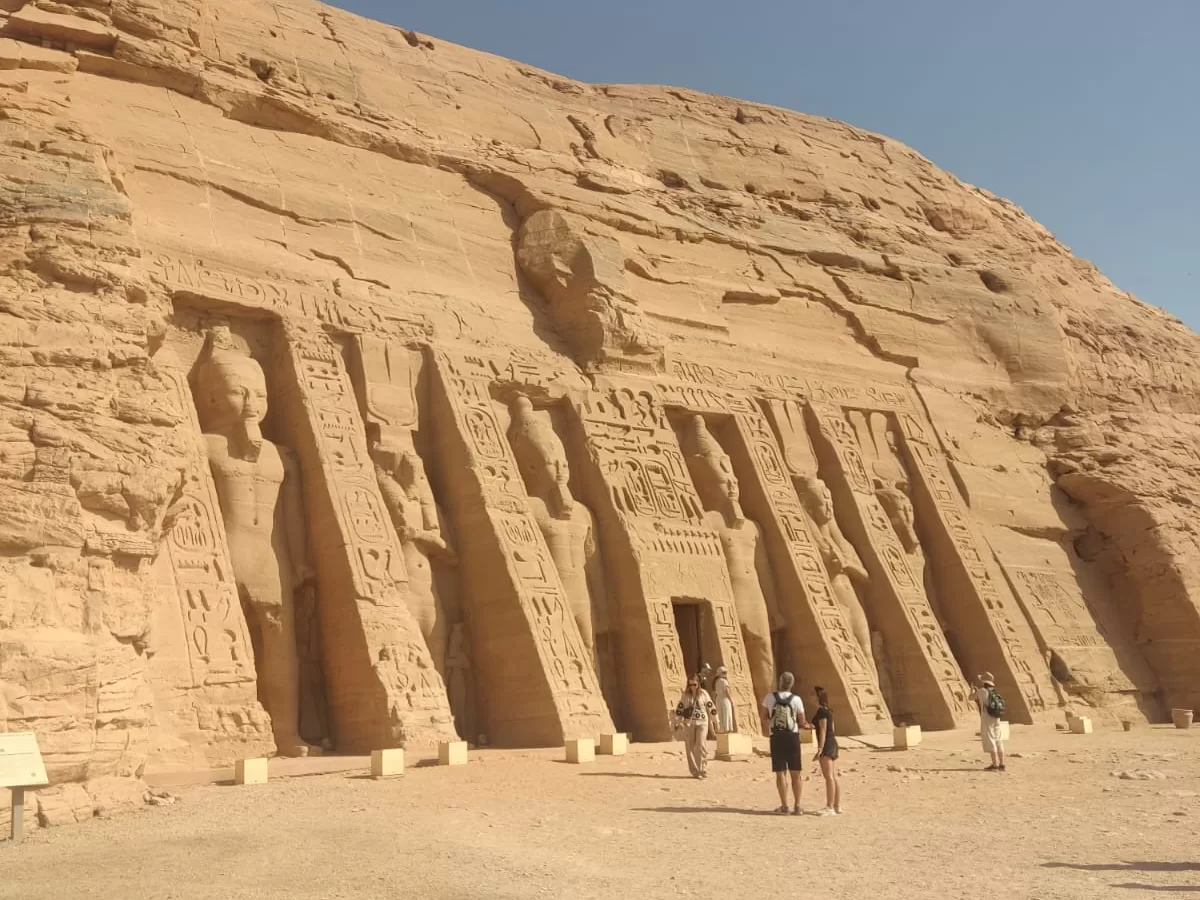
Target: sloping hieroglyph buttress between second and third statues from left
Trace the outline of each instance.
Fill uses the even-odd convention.
[[[526,746],[611,731],[488,382],[448,353],[434,361],[436,431],[463,560],[481,727],[492,743]]]

